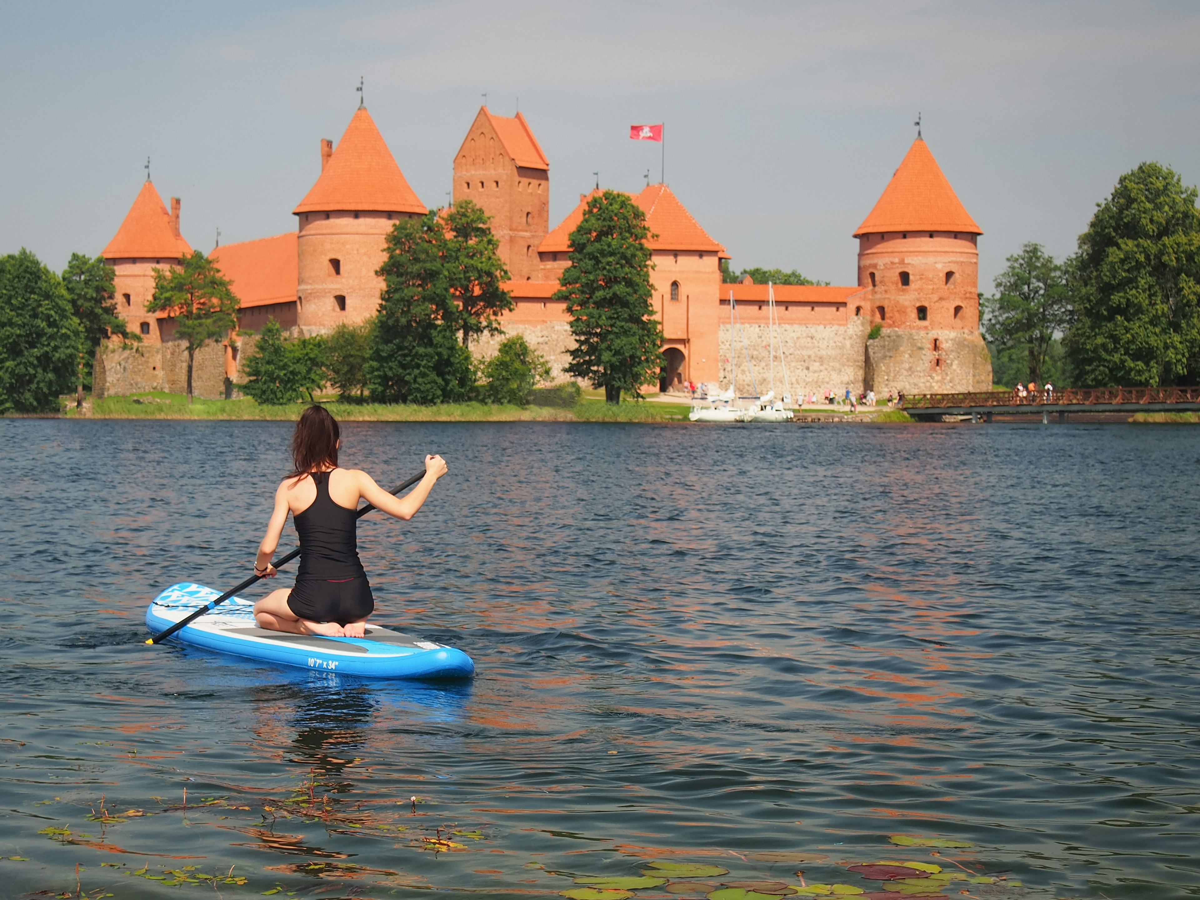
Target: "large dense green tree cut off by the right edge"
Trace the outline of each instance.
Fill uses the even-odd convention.
[[[1144,162],[1097,204],[1068,286],[1067,350],[1080,384],[1200,379],[1200,210],[1196,188]]]

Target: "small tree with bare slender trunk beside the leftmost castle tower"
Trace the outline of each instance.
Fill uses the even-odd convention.
[[[175,320],[175,334],[187,342],[187,402],[192,402],[196,352],[238,326],[240,304],[216,263],[193,251],[175,269],[154,270],[154,296],[146,312],[166,312]]]

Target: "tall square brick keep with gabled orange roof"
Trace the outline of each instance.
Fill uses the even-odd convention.
[[[492,217],[512,281],[536,281],[538,245],[550,230],[550,161],[526,118],[480,107],[454,157],[454,202],[473,200]]]

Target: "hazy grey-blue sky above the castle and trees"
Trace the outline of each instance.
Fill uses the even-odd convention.
[[[551,221],[666,180],[734,268],[852,284],[854,228],[924,136],[984,230],[1075,247],[1144,160],[1200,181],[1198,2],[11,2],[0,6],[0,253],[98,253],[152,160],[212,248],[292,230],[366,103],[426,205],[488,95],[551,162]]]

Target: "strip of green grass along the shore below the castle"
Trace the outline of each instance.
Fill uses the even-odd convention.
[[[76,418],[73,397],[66,415]],[[379,422],[500,422],[500,421],[590,421],[590,422],[665,422],[686,420],[688,407],[674,403],[622,403],[608,406],[602,400],[586,398],[571,408],[517,407],[491,403],[442,403],[407,406],[384,403],[338,403],[318,395],[322,404],[341,421]],[[240,400],[204,400],[192,403],[182,394],[150,391],[124,397],[104,397],[91,402],[92,419],[228,419],[295,421],[307,403],[260,406],[248,397]]]

